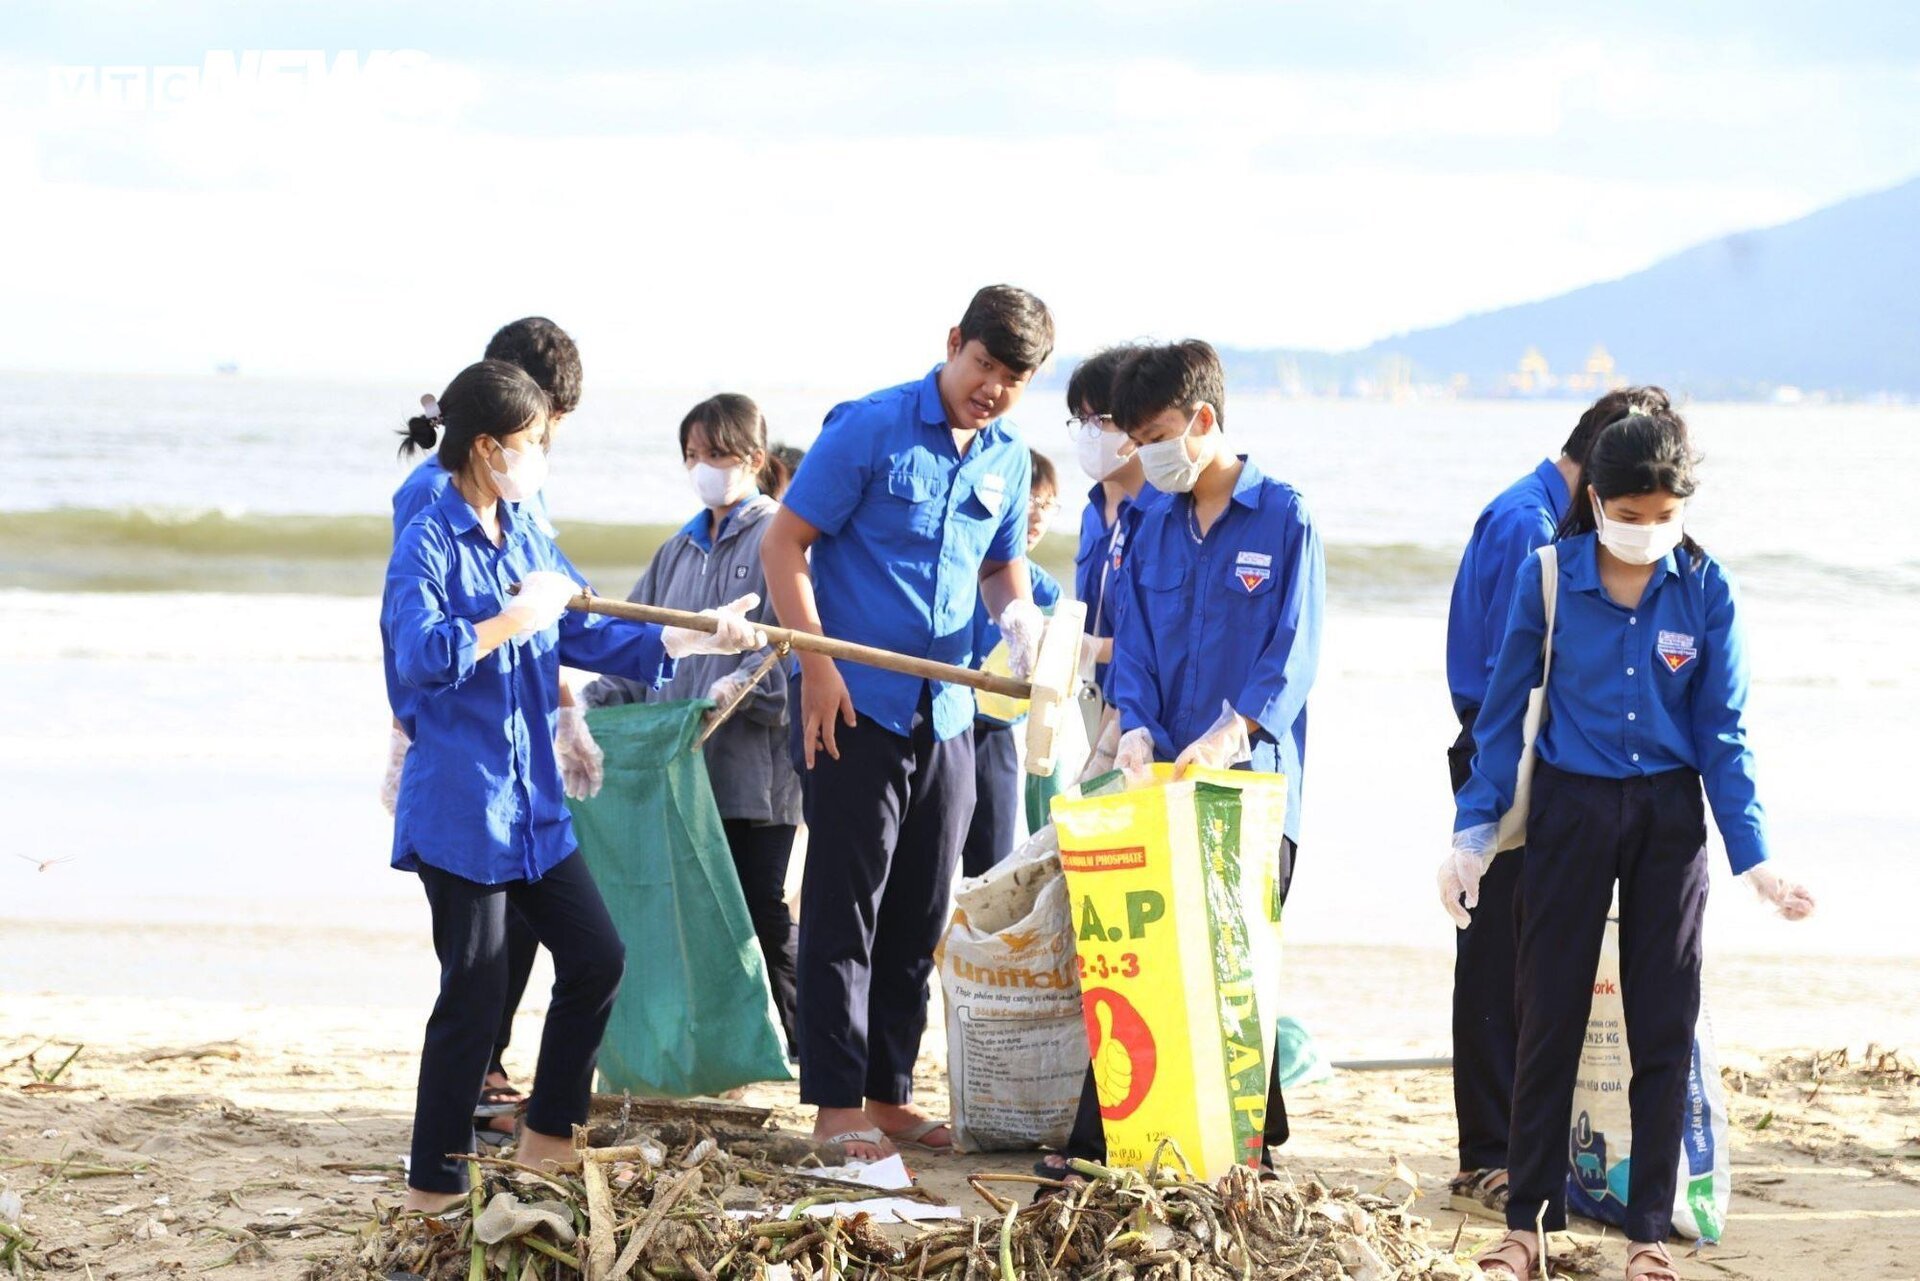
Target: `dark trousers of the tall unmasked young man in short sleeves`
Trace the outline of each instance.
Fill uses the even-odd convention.
[[[835,730],[806,778],[801,882],[801,1102],[908,1102],[933,947],[973,814],[973,736],[933,737],[924,693],[902,737]]]

